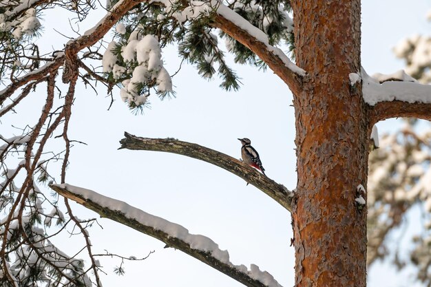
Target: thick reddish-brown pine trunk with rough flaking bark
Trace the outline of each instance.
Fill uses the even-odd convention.
[[[370,131],[361,87],[348,78],[360,70],[360,1],[292,5],[297,65],[308,72],[294,93],[295,286],[366,286],[366,206],[355,198]]]

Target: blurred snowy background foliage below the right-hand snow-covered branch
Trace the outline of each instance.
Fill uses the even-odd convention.
[[[410,261],[419,267],[418,279],[428,286],[431,281],[428,272],[431,264],[428,252],[431,223],[431,130],[415,131],[414,126],[414,121],[406,120],[397,133],[383,135],[381,147],[370,153],[367,262],[372,264],[376,259],[392,255],[398,267],[406,265],[403,253],[411,248],[400,245],[394,251],[387,247],[390,242],[387,236],[396,227],[408,222],[406,215],[416,206],[423,209],[423,228],[417,233],[403,236],[408,237],[408,240],[413,236],[416,248],[411,250]]]

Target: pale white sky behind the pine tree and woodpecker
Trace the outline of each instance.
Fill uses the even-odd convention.
[[[425,15],[430,8],[429,0],[414,1],[410,6],[399,0],[363,1],[362,65],[368,74],[403,68],[391,48],[406,36],[429,32]],[[67,40],[52,28],[61,30],[60,19],[65,28],[68,22],[61,17],[54,22],[52,13],[48,13],[43,25],[50,39],[44,43],[59,49]],[[88,23],[94,25],[99,19],[94,17]],[[163,51],[163,59],[166,69],[174,74],[179,64],[175,50]],[[235,70],[243,85],[239,92],[227,93],[218,87],[218,79],[208,83],[193,67],[183,65],[173,78],[177,97],[160,102],[151,96],[151,109],[142,116],[134,116],[127,109],[118,90],[114,95],[116,102],[107,111],[110,99],[105,98],[103,89],[98,96],[92,89],[77,89],[70,138],[86,142],[87,146],[76,145],[72,149],[66,181],[165,217],[185,226],[190,233],[211,237],[221,249],[229,251],[233,264],[257,264],[283,286],[293,286],[291,217],[282,206],[206,162],[171,153],[117,150],[118,141],[127,131],[136,136],[196,142],[240,158],[241,144],[237,138],[248,137],[260,153],[266,174],[293,189],[296,160],[291,92],[271,70],[263,73],[249,66],[235,66]],[[3,136],[19,134],[10,123],[23,126],[28,119],[39,118],[44,92],[45,88],[39,89],[23,100],[19,114],[4,118]],[[380,134],[393,126],[387,122],[378,125]],[[77,204],[73,207],[75,215],[82,219],[97,217]],[[181,251],[163,248],[165,244],[147,235],[109,220],[99,222],[104,229],[94,226],[90,233],[94,253],[107,249],[126,257],[143,257],[155,251],[143,262],[125,262],[123,277],[112,273],[114,266],[120,264],[118,259],[101,259],[108,273],[102,275],[105,287],[242,286]],[[57,243],[70,255],[83,246],[78,237],[64,237]],[[369,270],[368,286],[412,286],[409,274],[397,276],[395,269],[379,265]]]

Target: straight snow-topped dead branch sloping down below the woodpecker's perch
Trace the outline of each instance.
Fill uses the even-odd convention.
[[[199,259],[245,286],[281,287],[271,274],[261,271],[254,264],[251,264],[250,270],[244,265],[233,265],[229,260],[229,253],[221,250],[213,240],[203,235],[190,234],[187,228],[179,224],[136,209],[125,202],[107,198],[89,189],[74,187],[70,184],[52,184],[50,187],[65,198],[82,204],[102,217],[155,237],[165,242],[167,246]]]

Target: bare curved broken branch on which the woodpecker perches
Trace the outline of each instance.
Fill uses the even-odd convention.
[[[276,202],[280,203],[285,209],[291,211],[291,202],[293,192],[288,191],[282,184],[271,180],[262,175],[256,169],[249,167],[247,164],[240,162],[236,158],[227,156],[220,151],[215,151],[201,145],[191,142],[182,142],[172,138],[140,138],[132,134],[124,133],[125,138],[120,140],[120,149],[134,149],[144,151],[165,151],[169,153],[178,153],[182,156],[189,156],[198,160],[203,160],[215,164],[222,169],[226,169],[235,176],[239,176],[249,184],[253,184],[266,195],[269,195]]]

